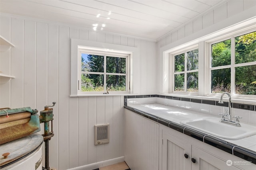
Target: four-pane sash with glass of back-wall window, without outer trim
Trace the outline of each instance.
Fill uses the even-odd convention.
[[[80,92],[128,92],[129,54],[79,47]]]

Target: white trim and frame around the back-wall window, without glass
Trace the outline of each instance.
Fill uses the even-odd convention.
[[[107,53],[107,54],[119,54],[119,56],[128,56],[127,64],[127,90],[124,92],[81,92],[78,80],[81,77],[81,55],[82,50]],[[106,95],[125,95],[133,93],[133,58],[138,56],[138,48],[129,47],[124,45],[115,45],[110,43],[102,43],[95,41],[87,41],[81,39],[71,39],[71,65],[70,65],[70,97],[79,96],[106,96]],[[105,67],[106,68],[106,67]],[[110,73],[112,74],[112,73]],[[135,77],[136,78],[136,77]]]

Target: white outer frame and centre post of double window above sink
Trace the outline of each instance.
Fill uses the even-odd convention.
[[[241,23],[226,27],[224,29],[222,28],[222,25],[219,25],[222,29],[216,29],[214,32],[212,31],[212,29],[209,29],[210,31],[208,30],[208,34],[204,35],[204,33],[202,33],[202,36],[199,38],[187,38],[184,41],[183,39],[181,39],[180,41],[171,43],[164,47],[160,47],[160,94],[166,94],[176,97],[188,97],[189,95],[189,97],[193,96],[193,98],[218,100],[220,98],[220,94],[209,93],[211,91],[211,76],[209,73],[209,60],[211,59],[209,58],[209,53],[211,51],[211,48],[209,48],[208,43],[217,40],[219,40],[218,42],[220,42],[222,40],[228,39],[223,37],[237,37],[245,33],[254,32],[256,30],[255,21],[256,18],[253,18],[251,20],[246,20]],[[172,65],[170,64],[170,53],[182,51],[188,47],[192,47],[193,45],[198,45],[198,95],[190,95],[188,93],[175,93],[171,90],[172,79],[170,74]],[[232,101],[235,102],[244,102],[246,100],[246,103],[254,104],[256,101],[256,95],[231,94],[231,96]]]

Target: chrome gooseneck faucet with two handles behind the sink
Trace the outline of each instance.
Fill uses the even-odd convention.
[[[236,119],[235,121],[232,120],[232,113],[231,113],[231,96],[228,92],[224,92],[221,94],[220,96],[220,100],[219,100],[219,104],[223,104],[223,96],[224,95],[228,95],[228,113],[220,113],[220,115],[222,115],[220,122],[222,123],[227,123],[227,124],[231,124],[234,126],[241,126],[239,123],[239,119],[241,119],[242,117],[239,116],[234,116],[234,118]],[[225,116],[228,116],[228,118],[226,119]]]

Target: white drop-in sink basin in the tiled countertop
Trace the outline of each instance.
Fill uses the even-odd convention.
[[[241,127],[220,123],[218,117],[203,117],[181,121],[182,125],[222,139],[237,140],[256,134],[256,126],[240,123]]]

